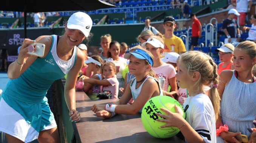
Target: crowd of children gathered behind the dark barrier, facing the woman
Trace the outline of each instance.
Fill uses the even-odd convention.
[[[82,76],[83,91],[89,98],[99,99],[97,94],[103,91],[110,91],[113,99],[120,98],[116,104],[93,105],[91,110],[97,116],[136,114],[148,99],[166,95],[183,105],[186,117],[182,117],[180,108],[176,107],[176,113],[161,108],[167,114],[158,114],[165,118],[158,121],[166,123],[162,127],[178,127],[185,142],[231,143],[237,141],[234,137],[239,134],[252,140],[247,128],[253,128],[256,117],[254,42],[241,42],[236,48],[232,44],[222,45],[216,49],[221,60],[217,66],[200,51],[180,55],[171,52],[163,57],[161,36],[150,35],[145,40],[142,37],[145,38],[138,37],[141,45],[126,52],[127,44],[104,35],[102,47],[109,47],[103,48],[100,56],[105,55],[105,59],[94,55],[85,61],[90,74]],[[163,87],[159,77],[165,80]]]

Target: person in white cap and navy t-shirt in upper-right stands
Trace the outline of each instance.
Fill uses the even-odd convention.
[[[228,11],[228,18],[225,19],[222,23],[222,29],[225,32],[227,38],[225,38],[224,44],[233,42],[233,41],[240,41],[240,30],[237,21],[234,19],[236,16],[240,14],[236,11],[236,9],[230,9]]]

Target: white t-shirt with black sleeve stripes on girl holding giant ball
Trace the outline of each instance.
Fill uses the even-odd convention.
[[[187,106],[187,110],[185,110]],[[201,93],[188,96],[183,104],[185,119],[206,143],[216,143],[216,120],[210,98]],[[187,140],[185,140],[187,143]]]

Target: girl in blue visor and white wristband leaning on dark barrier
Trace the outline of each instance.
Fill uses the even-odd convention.
[[[162,94],[159,84],[154,78],[155,73],[151,69],[153,66],[151,53],[143,49],[136,49],[133,53],[125,54],[124,57],[130,59],[129,72],[135,76],[135,79],[128,83],[125,93],[116,104],[94,104],[91,107],[91,110],[99,117],[112,117],[115,113],[136,114],[151,97]],[[134,98],[134,102],[127,105],[131,97]]]

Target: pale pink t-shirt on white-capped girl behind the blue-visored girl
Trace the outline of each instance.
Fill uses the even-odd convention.
[[[168,64],[168,63],[163,63],[163,65],[153,68],[153,71],[156,72],[157,77],[164,77],[165,78],[165,86],[163,90],[167,91],[168,90],[168,85],[169,85],[169,80],[170,78],[175,77],[176,71],[173,65]]]

